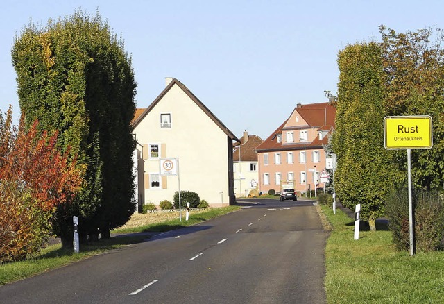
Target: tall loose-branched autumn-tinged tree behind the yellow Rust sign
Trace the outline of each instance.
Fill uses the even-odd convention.
[[[411,151],[411,178],[418,189],[436,189],[444,179],[444,31],[379,29],[387,115],[432,116],[433,149]],[[405,151],[395,153],[395,164],[395,181],[407,183]]]

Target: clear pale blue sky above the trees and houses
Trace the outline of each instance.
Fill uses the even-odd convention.
[[[336,92],[338,51],[395,31],[444,27],[444,1],[143,1],[3,0],[0,13],[0,109],[19,117],[10,50],[33,22],[76,8],[108,19],[133,56],[137,106],[146,107],[178,78],[238,137],[262,139],[296,103],[326,101]]]

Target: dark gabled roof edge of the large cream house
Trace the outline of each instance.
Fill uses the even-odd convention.
[[[235,140],[237,142],[240,142],[240,140],[236,136],[234,136],[234,134],[224,124],[222,124],[222,121],[220,121],[202,103],[202,101],[200,101],[190,90],[188,90],[188,88],[183,83],[178,81],[176,78],[173,78],[173,80],[167,85],[167,87],[165,87],[165,89],[159,94],[159,96],[157,96],[156,99],[154,99],[154,101],[151,103],[151,105],[148,105],[148,108],[146,108],[144,110],[144,112],[142,112],[142,114],[139,115],[139,117],[135,117],[134,127],[136,127],[140,123],[140,121],[142,121],[144,119],[144,117],[146,117],[146,115],[155,107],[155,105],[157,105],[157,103],[159,103],[159,101],[162,100],[162,98],[165,96],[165,94],[167,94],[167,92],[169,90],[171,90],[171,87],[173,87],[173,85],[178,85],[178,87],[180,87],[182,89],[182,91],[185,92],[185,94],[187,94],[187,96],[189,96],[189,98],[192,101],[194,101],[194,103],[196,103],[196,105],[198,105],[200,110],[203,110],[203,112],[205,112],[205,114],[208,115],[208,117],[210,117],[210,119],[212,119],[212,121],[214,121],[214,124],[219,126],[219,128],[221,128],[221,130],[223,130],[223,132],[226,135],[228,135],[228,137],[230,137],[231,140]],[[137,112],[136,112],[136,114],[137,114]]]

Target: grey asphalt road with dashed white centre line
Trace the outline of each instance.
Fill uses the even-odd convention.
[[[328,233],[312,202],[244,207],[4,285],[0,303],[325,303]]]

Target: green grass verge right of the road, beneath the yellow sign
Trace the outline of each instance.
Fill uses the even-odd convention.
[[[334,229],[325,248],[327,303],[444,303],[444,252],[397,251],[384,226],[354,240],[353,219],[322,210]]]

